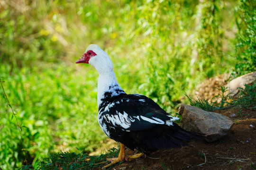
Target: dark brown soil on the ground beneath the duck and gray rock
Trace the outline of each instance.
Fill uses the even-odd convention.
[[[110,170],[255,170],[256,110],[241,109],[241,115],[239,109],[216,112],[228,117],[236,114],[231,118],[235,124],[224,138],[212,143],[193,140],[188,146],[160,150]]]

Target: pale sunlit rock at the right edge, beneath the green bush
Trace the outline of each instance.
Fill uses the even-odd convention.
[[[227,95],[229,93],[232,97],[237,96],[240,91],[240,89],[238,89],[238,87],[245,88],[245,84],[251,85],[255,79],[256,79],[256,71],[248,73],[243,76],[239,76],[239,77],[231,80],[226,85],[226,87],[228,87],[229,91],[227,91],[225,93],[225,95]]]

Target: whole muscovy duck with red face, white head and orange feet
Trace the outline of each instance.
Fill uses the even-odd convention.
[[[187,145],[191,138],[201,139],[175,124],[179,118],[170,116],[150,98],[125,93],[117,82],[110,57],[98,45],[89,45],[76,63],[90,64],[98,71],[98,121],[103,132],[120,143],[118,158],[103,168],[159,149]],[[126,156],[125,146],[141,153]]]

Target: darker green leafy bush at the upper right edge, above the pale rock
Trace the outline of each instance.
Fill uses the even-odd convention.
[[[256,70],[256,0],[240,0],[236,8],[238,76]]]

